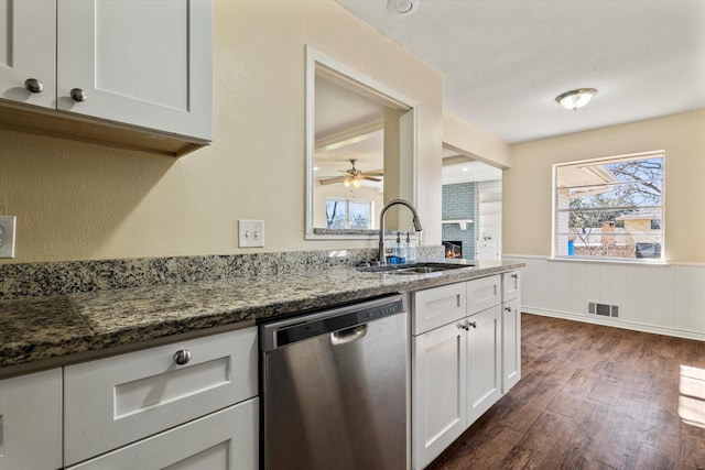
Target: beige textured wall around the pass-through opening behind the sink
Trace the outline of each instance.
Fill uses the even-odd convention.
[[[419,102],[419,209],[441,242],[441,74],[332,1],[215,1],[214,143],[183,159],[0,131],[0,263],[375,248],[304,240],[306,44]],[[237,248],[263,219],[265,248]]]

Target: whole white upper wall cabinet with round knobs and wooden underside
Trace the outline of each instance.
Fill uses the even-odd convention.
[[[213,0],[0,0],[0,37],[2,127],[174,156],[213,140]]]

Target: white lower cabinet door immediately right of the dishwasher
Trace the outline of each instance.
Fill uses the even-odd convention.
[[[423,469],[466,428],[465,319],[412,342],[412,466]]]

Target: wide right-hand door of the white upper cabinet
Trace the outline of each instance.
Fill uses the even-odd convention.
[[[58,0],[56,77],[61,110],[209,141],[213,1]]]

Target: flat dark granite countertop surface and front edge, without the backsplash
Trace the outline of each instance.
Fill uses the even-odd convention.
[[[0,376],[32,363],[61,364],[189,331],[241,324],[383,294],[411,292],[523,266],[475,261],[435,275],[394,275],[350,267],[302,270],[216,281],[0,300]]]

